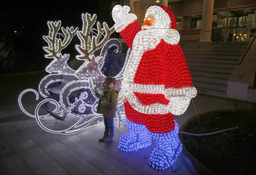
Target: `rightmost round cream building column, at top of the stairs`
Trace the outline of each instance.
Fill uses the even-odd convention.
[[[201,36],[199,42],[212,42],[212,16],[214,0],[204,0]]]

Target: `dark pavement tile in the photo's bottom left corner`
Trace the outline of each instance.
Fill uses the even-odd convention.
[[[32,175],[31,171],[23,164],[20,163],[6,171],[0,172],[1,175]]]

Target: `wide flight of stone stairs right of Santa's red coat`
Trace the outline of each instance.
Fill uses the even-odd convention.
[[[199,94],[226,97],[228,78],[249,42],[181,42]]]

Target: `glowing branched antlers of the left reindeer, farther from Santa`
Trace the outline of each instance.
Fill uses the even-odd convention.
[[[58,34],[58,30],[60,30],[60,24],[61,22],[53,22],[48,21],[47,22],[49,27],[49,35],[43,36],[44,40],[48,43],[48,47],[43,47],[44,51],[46,51],[48,54],[44,55],[46,58],[57,58],[57,54],[64,48],[66,48],[69,43],[71,42],[73,36],[77,33],[78,27],[71,28],[67,27],[66,29],[64,27],[61,28],[63,34],[65,35],[65,38],[63,41],[61,39],[56,38]]]

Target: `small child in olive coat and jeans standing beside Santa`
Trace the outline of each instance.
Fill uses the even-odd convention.
[[[104,136],[99,139],[100,142],[112,142],[114,137],[114,117],[117,110],[117,99],[118,91],[114,89],[115,78],[106,77],[105,82],[103,82],[103,89],[101,95],[97,92],[95,87],[93,91],[95,96],[99,98],[99,104],[97,108],[97,113],[103,114],[103,121],[105,125]]]

